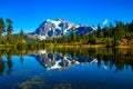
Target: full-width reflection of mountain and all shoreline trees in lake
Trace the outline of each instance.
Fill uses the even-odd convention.
[[[2,57],[7,60],[3,61]],[[122,69],[131,69],[133,71],[133,51],[132,48],[126,49],[108,49],[108,48],[82,48],[82,49],[45,49],[38,51],[20,51],[20,50],[0,50],[0,75],[6,70],[10,75],[13,66],[12,56],[20,56],[20,62],[23,63],[23,56],[34,57],[41,66],[47,70],[57,69],[64,70],[76,65],[96,63],[101,68],[104,63],[104,69],[112,69],[115,67],[115,72]]]

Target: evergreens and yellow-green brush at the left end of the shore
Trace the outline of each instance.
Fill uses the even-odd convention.
[[[29,44],[25,44],[23,39],[24,32],[23,29],[20,29],[20,32],[13,34],[13,21],[11,19],[6,19],[6,21],[0,18],[0,48],[18,48],[23,49]]]

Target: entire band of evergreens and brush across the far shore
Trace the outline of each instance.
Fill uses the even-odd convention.
[[[133,21],[124,23],[122,21],[115,21],[113,26],[110,22],[109,26],[101,28],[98,24],[98,30],[88,34],[78,36],[74,32],[74,27],[71,28],[71,36],[61,38],[50,38],[45,40],[35,40],[33,42],[25,41],[23,36],[24,32],[21,29],[18,37],[12,36],[13,26],[12,20],[7,19],[6,21],[0,18],[0,47],[16,47],[18,49],[30,48],[38,49],[44,48],[52,44],[105,44],[106,47],[116,47],[119,44],[127,46],[133,44]]]

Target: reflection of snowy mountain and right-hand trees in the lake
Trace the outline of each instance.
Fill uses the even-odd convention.
[[[133,70],[133,52],[130,49],[88,49],[88,50],[66,50],[47,51],[40,50],[37,55],[32,55],[41,66],[47,70],[57,69],[64,70],[76,65],[91,65],[96,62],[101,67],[103,62],[104,69],[115,67],[115,72],[125,68]]]

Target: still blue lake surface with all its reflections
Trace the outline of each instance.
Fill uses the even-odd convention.
[[[133,89],[133,50],[0,50],[0,89]]]

